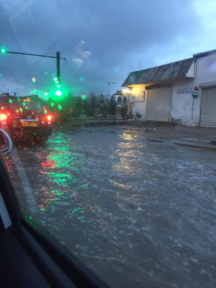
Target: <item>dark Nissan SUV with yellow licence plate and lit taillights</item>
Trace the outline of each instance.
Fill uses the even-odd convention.
[[[38,95],[17,97],[9,93],[0,94],[0,124],[7,126],[15,140],[45,142],[52,134],[51,119],[44,100]]]

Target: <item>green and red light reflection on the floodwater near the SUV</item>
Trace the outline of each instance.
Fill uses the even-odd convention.
[[[66,205],[67,208],[70,207],[67,213],[76,215],[81,220],[84,216],[81,216],[80,213],[84,213],[86,208],[74,207],[76,205],[74,202],[74,193],[78,195],[79,189],[82,189],[85,185],[81,184],[82,180],[78,178],[78,175],[74,175],[78,170],[76,163],[77,160],[79,163],[79,159],[76,159],[76,153],[71,152],[72,146],[69,145],[70,141],[65,143],[65,139],[61,136],[62,134],[65,133],[59,131],[55,140],[49,140],[49,143],[56,150],[51,151],[46,156],[43,165],[41,165],[43,166],[41,173],[46,175],[49,184],[41,189],[40,201],[43,205],[39,208],[41,211],[48,210],[51,213],[57,213],[57,209],[61,207],[59,205]],[[68,207],[67,205],[70,206]]]

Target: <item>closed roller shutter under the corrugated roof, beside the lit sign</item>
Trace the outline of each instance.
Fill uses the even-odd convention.
[[[171,88],[152,88],[148,90],[146,120],[169,121]]]

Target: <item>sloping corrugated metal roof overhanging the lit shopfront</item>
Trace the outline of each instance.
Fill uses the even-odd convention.
[[[131,72],[122,87],[185,78],[193,58]]]

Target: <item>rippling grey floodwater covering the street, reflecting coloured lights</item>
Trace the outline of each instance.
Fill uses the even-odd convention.
[[[215,287],[216,153],[144,131],[65,128],[4,157],[22,213],[111,287]]]

